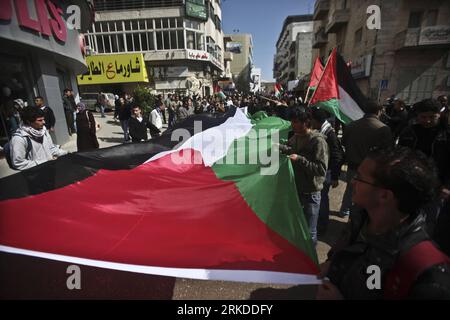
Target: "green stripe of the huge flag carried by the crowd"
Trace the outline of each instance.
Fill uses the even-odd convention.
[[[317,264],[316,250],[298,199],[291,161],[280,155],[279,171],[275,175],[262,175],[260,164],[249,164],[249,159],[258,159],[258,153],[267,155],[273,152],[273,133],[270,130],[279,130],[282,141],[287,139],[291,125],[276,117],[259,116],[252,122],[255,124],[252,132],[234,141],[223,163],[217,162],[212,169],[218,178],[235,182],[255,214]],[[256,145],[258,148],[251,147]],[[242,155],[245,155],[246,164],[236,164],[237,158]]]

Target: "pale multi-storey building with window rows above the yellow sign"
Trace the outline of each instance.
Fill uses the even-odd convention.
[[[221,0],[94,3],[95,23],[86,34],[91,54],[143,53],[158,94],[213,93],[213,80],[224,72]]]

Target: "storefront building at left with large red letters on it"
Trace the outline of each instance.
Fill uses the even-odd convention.
[[[80,8],[81,24],[72,26],[69,6]],[[13,100],[34,104],[42,96],[56,117],[53,139],[58,144],[69,140],[62,95],[65,88],[78,96],[76,76],[86,71],[83,30],[91,25],[90,1],[0,2],[0,85],[1,110]],[[8,138],[5,115],[1,114],[0,138]]]

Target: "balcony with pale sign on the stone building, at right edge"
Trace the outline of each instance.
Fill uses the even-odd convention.
[[[394,49],[422,49],[426,47],[450,47],[450,26],[409,28],[395,36]]]

